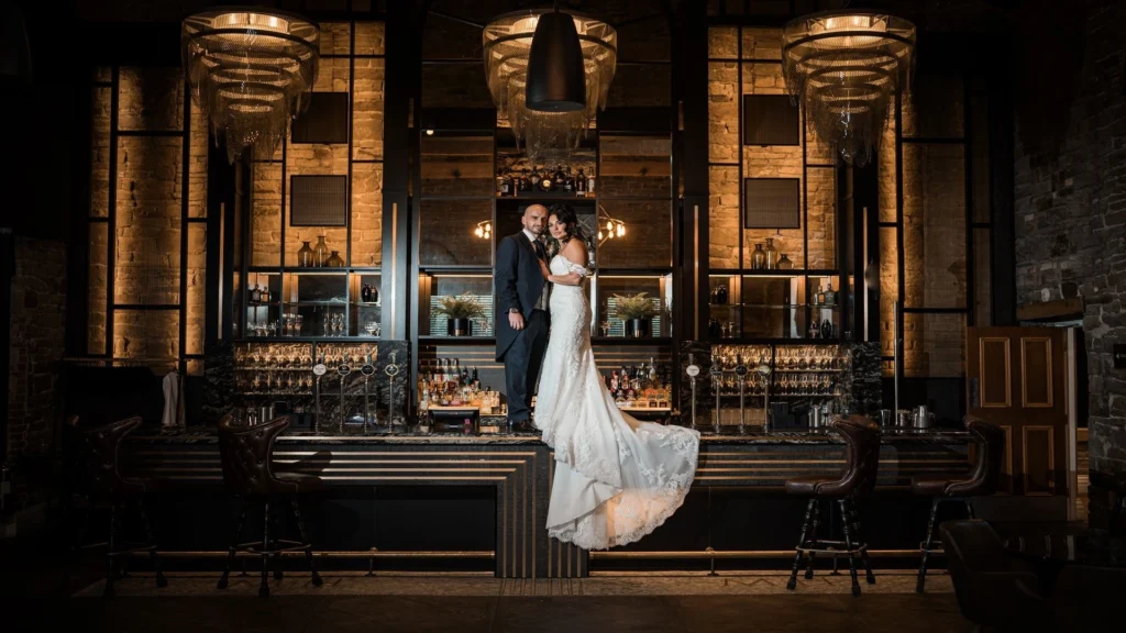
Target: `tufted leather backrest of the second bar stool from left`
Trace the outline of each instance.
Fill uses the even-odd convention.
[[[295,492],[293,483],[274,474],[274,440],[289,427],[289,418],[244,426],[227,416],[218,422],[218,449],[223,462],[223,483],[234,494],[258,496]]]

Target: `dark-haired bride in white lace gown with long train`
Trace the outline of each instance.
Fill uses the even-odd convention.
[[[551,336],[539,373],[535,425],[555,449],[547,534],[584,550],[625,545],[653,532],[685,501],[696,474],[699,433],[641,422],[607,391],[590,347],[582,287],[587,248],[574,211],[552,207],[547,228],[561,249],[540,261],[553,284]],[[578,273],[580,278],[572,282]]]

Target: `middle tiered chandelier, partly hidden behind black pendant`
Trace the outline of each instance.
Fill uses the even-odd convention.
[[[528,109],[525,90],[528,55],[539,17],[552,9],[531,9],[498,16],[482,32],[485,79],[493,102],[512,126],[519,148],[522,140],[528,158],[535,162],[569,162],[571,152],[590,128],[599,109],[606,107],[618,59],[618,34],[610,25],[595,18],[569,14],[574,20],[582,46],[586,71],[586,108],[573,112]]]

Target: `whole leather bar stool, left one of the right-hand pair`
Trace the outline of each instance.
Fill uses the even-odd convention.
[[[875,585],[876,577],[868,563],[868,544],[860,534],[860,519],[857,516],[855,501],[857,497],[870,494],[876,487],[876,474],[879,470],[879,427],[863,416],[849,418],[838,416],[831,427],[844,438],[844,472],[840,476],[803,475],[786,480],[788,494],[810,497],[810,503],[805,508],[805,521],[802,524],[802,535],[795,547],[794,568],[790,570],[786,588],[797,588],[797,570],[805,553],[810,554],[808,565],[805,569],[805,578],[810,580],[813,578],[814,556],[817,553],[832,554],[835,569],[837,555],[842,551],[834,545],[843,545],[852,577],[852,595],[859,596],[860,582],[856,573],[856,554],[860,555],[868,585]],[[823,499],[835,499],[840,507],[843,542],[817,538],[817,517]],[[831,508],[830,506],[830,511]],[[806,538],[811,533],[812,537]]]

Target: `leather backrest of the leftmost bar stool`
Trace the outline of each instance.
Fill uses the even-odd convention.
[[[82,462],[79,474],[84,475],[82,483],[95,500],[117,503],[144,494],[144,481],[126,479],[120,472],[122,440],[141,426],[140,417],[83,428],[78,416],[71,416],[66,424],[74,431],[78,458]]]

